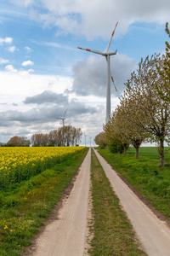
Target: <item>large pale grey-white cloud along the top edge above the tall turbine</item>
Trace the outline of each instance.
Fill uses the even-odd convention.
[[[35,3],[35,1],[34,1]],[[119,29],[116,36],[127,32],[134,22],[165,24],[170,20],[170,2],[167,0],[39,0],[47,12],[32,9],[31,18],[44,26],[57,26],[58,32],[85,35],[88,39],[109,38],[116,21]]]

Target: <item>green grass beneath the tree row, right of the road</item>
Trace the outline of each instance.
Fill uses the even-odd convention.
[[[170,220],[170,152],[166,149],[164,167],[159,166],[158,152],[152,147],[139,148],[139,160],[134,158],[134,148],[126,156],[107,149],[99,149],[99,154]]]

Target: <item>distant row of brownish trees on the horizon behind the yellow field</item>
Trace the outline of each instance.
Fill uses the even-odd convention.
[[[75,128],[71,125],[64,126],[58,130],[50,131],[48,134],[33,134],[31,140],[26,137],[14,136],[8,143],[0,143],[1,147],[59,147],[74,146],[80,143],[82,137],[81,128]]]

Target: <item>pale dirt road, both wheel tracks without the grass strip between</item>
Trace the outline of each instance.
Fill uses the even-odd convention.
[[[111,166],[96,152],[124,211],[133,224],[143,250],[149,256],[170,255],[170,230],[139,200]],[[59,210],[58,218],[48,224],[37,238],[29,256],[82,256],[87,255],[87,212],[90,181],[91,149],[82,162],[71,195]],[[100,255],[99,255],[100,256]]]

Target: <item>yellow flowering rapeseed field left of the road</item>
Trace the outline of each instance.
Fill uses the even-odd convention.
[[[20,183],[77,154],[84,147],[0,148],[0,188]]]

